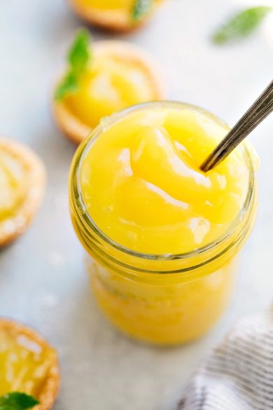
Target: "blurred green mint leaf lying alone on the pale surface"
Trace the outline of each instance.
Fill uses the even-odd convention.
[[[241,11],[218,29],[212,37],[214,43],[223,44],[243,39],[260,25],[269,11],[272,11],[272,7],[258,6]]]

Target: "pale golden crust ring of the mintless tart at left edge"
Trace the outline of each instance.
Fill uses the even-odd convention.
[[[45,190],[45,168],[41,160],[27,146],[12,139],[0,137],[0,152],[8,153],[25,170],[27,192],[25,199],[15,212],[0,219],[0,247],[8,245],[21,235],[31,223],[41,205]],[[1,189],[1,187],[0,187]]]

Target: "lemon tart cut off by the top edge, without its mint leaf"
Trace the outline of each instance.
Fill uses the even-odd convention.
[[[99,0],[98,0],[99,1]],[[94,8],[91,6],[85,6],[80,0],[70,0],[71,7],[73,11],[83,20],[89,22],[92,25],[101,27],[103,29],[109,29],[113,32],[130,32],[131,30],[137,29],[144,25],[153,13],[155,13],[156,8],[163,0],[157,0],[154,2],[151,11],[146,13],[146,15],[134,21],[128,13],[128,11],[123,10],[102,10],[100,8]]]

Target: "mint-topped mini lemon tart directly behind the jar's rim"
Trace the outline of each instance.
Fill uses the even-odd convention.
[[[164,97],[164,81],[153,57],[122,41],[100,41],[80,30],[55,89],[55,118],[64,133],[83,140],[102,118],[134,104]]]

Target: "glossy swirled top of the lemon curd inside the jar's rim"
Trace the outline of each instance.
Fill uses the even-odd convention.
[[[229,128],[195,107],[132,111],[94,139],[80,187],[87,212],[119,245],[181,254],[221,237],[244,205],[249,170],[241,147],[214,170],[200,164]]]

